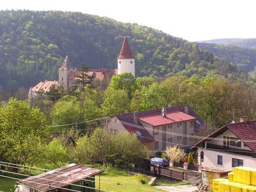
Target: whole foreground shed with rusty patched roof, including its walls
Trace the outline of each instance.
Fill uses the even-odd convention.
[[[68,164],[49,172],[18,180],[22,192],[61,192],[70,191],[97,191],[95,190],[95,175],[104,171],[79,164]],[[81,187],[80,187],[81,186]]]

